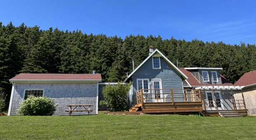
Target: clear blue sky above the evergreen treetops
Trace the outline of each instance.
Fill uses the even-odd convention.
[[[256,44],[255,0],[5,0],[0,22],[86,34]]]

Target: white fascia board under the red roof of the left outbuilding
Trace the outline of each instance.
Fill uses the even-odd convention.
[[[92,83],[92,82],[101,82],[101,80],[9,80],[10,82],[15,83]]]

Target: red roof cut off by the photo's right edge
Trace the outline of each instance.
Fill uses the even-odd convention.
[[[248,86],[251,84],[256,84],[256,70],[244,73],[244,75],[234,85]]]

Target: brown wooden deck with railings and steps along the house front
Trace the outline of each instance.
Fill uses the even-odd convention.
[[[203,99],[201,90],[193,89],[157,89],[144,93],[142,90],[137,92],[137,103],[130,112],[142,111],[142,113],[173,113],[173,114],[191,114],[199,113],[202,116],[231,116],[237,113],[239,116],[247,115],[245,106],[240,106],[234,110],[208,110],[207,106],[211,101]],[[166,91],[164,91],[166,90]],[[203,104],[205,103],[205,104]],[[207,104],[209,103],[209,104]],[[242,109],[243,108],[243,109]],[[211,108],[212,109],[212,108]]]

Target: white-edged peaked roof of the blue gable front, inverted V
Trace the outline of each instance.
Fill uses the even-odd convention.
[[[169,59],[167,59],[160,51],[158,51],[157,49],[155,49],[155,51],[153,51],[153,53],[150,54],[150,56],[148,56],[135,70],[133,70],[132,73],[130,73],[130,75],[128,75],[128,77],[126,77],[125,80],[123,80],[123,82],[126,82],[132,75],[134,72],[136,72],[149,58],[151,58],[156,52],[158,52],[162,58],[164,60],[167,61],[167,63],[169,63],[169,65],[171,65],[172,68],[174,68],[174,70],[176,70],[180,75],[182,80],[187,79],[188,77],[186,75],[184,75],[183,72],[181,72],[181,70],[179,70],[179,68],[177,68],[173,63],[171,63],[171,61]]]

